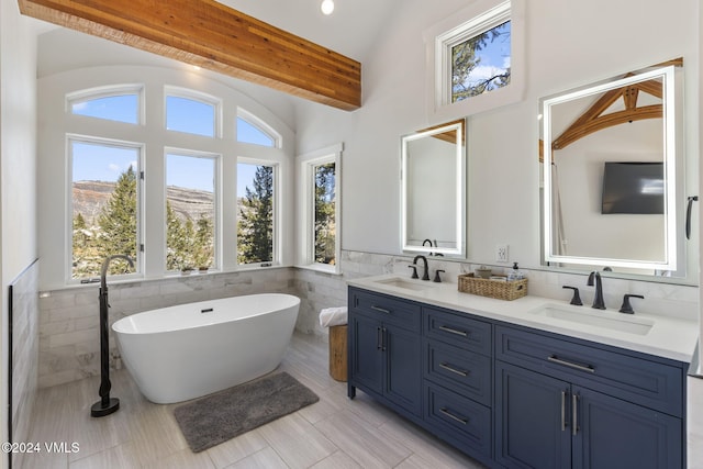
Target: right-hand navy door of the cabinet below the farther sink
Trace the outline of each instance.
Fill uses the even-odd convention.
[[[422,414],[422,347],[417,333],[383,325],[386,397],[415,415]]]

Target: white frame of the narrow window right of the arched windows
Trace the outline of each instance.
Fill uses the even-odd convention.
[[[298,157],[298,208],[300,243],[298,246],[297,267],[323,271],[327,273],[342,273],[342,143],[321,148]],[[335,164],[335,259],[334,266],[315,263],[315,167]]]

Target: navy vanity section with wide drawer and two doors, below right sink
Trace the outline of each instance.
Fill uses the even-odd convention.
[[[683,368],[651,358],[496,326],[495,459],[509,468],[684,467]]]

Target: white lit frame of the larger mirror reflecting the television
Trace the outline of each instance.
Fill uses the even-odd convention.
[[[554,253],[553,237],[553,201],[551,201],[551,107],[573,99],[594,96],[604,91],[623,88],[628,85],[662,79],[662,119],[663,119],[663,163],[666,180],[666,222],[665,222],[665,259],[662,261],[645,261],[637,259],[616,259],[606,257],[563,256]],[[577,91],[566,92],[543,100],[543,142],[544,142],[544,201],[543,201],[543,247],[544,261],[574,265],[624,267],[635,269],[677,270],[677,135],[676,135],[676,82],[674,66],[656,68],[615,81],[609,81]],[[549,142],[549,144],[547,144]]]

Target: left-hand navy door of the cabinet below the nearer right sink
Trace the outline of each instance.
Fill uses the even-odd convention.
[[[495,458],[509,468],[571,466],[568,382],[495,361]]]

